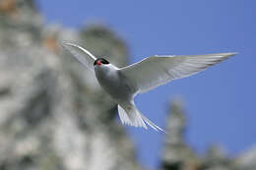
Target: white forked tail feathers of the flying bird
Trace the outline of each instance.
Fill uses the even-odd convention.
[[[146,124],[156,131],[165,133],[160,127],[144,116],[134,105],[125,108],[118,105],[118,113],[122,124],[148,129]],[[146,124],[145,124],[146,123]],[[165,133],[166,134],[166,133]]]

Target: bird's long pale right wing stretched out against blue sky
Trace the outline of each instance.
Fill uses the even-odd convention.
[[[132,87],[143,93],[171,80],[181,79],[222,62],[236,53],[154,56],[120,69]]]

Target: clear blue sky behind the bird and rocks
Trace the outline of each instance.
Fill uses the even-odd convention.
[[[197,152],[220,143],[237,155],[256,143],[256,1],[37,0],[46,23],[80,28],[101,22],[126,40],[130,62],[161,54],[239,52],[207,71],[139,95],[138,108],[164,127],[167,104],[181,96],[186,141]],[[146,167],[157,167],[164,135],[127,128]]]

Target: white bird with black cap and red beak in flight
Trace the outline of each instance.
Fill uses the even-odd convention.
[[[185,78],[222,62],[236,53],[205,55],[163,55],[152,56],[142,61],[118,68],[103,58],[96,58],[85,48],[65,43],[67,49],[81,64],[94,72],[99,85],[118,104],[122,124],[165,133],[160,127],[145,117],[135,106],[134,97],[172,80]]]

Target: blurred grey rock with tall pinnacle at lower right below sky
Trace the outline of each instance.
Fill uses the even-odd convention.
[[[230,158],[219,145],[210,146],[204,157],[196,155],[184,142],[186,119],[180,102],[170,104],[167,136],[161,158],[162,170],[255,170],[256,149]]]

